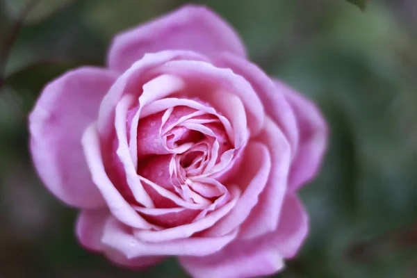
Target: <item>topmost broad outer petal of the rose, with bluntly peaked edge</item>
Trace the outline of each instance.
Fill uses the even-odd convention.
[[[240,38],[224,19],[203,6],[188,5],[117,35],[108,52],[108,67],[124,72],[146,53],[172,49],[246,56]]]

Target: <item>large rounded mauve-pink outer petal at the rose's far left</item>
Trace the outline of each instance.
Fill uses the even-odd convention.
[[[72,206],[104,204],[85,163],[81,136],[117,76],[82,67],[49,83],[29,116],[33,162],[56,197]]]

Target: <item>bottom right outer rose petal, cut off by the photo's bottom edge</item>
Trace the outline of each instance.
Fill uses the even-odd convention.
[[[240,278],[272,275],[284,268],[308,232],[308,218],[297,196],[286,195],[277,230],[250,240],[236,239],[220,252],[204,257],[182,256],[181,265],[193,277]]]

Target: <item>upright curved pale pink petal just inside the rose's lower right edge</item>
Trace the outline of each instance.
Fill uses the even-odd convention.
[[[284,133],[270,117],[265,118],[263,130],[254,140],[259,140],[268,147],[272,167],[268,183],[259,195],[258,204],[240,226],[241,238],[254,238],[277,229],[291,166],[291,147]]]

